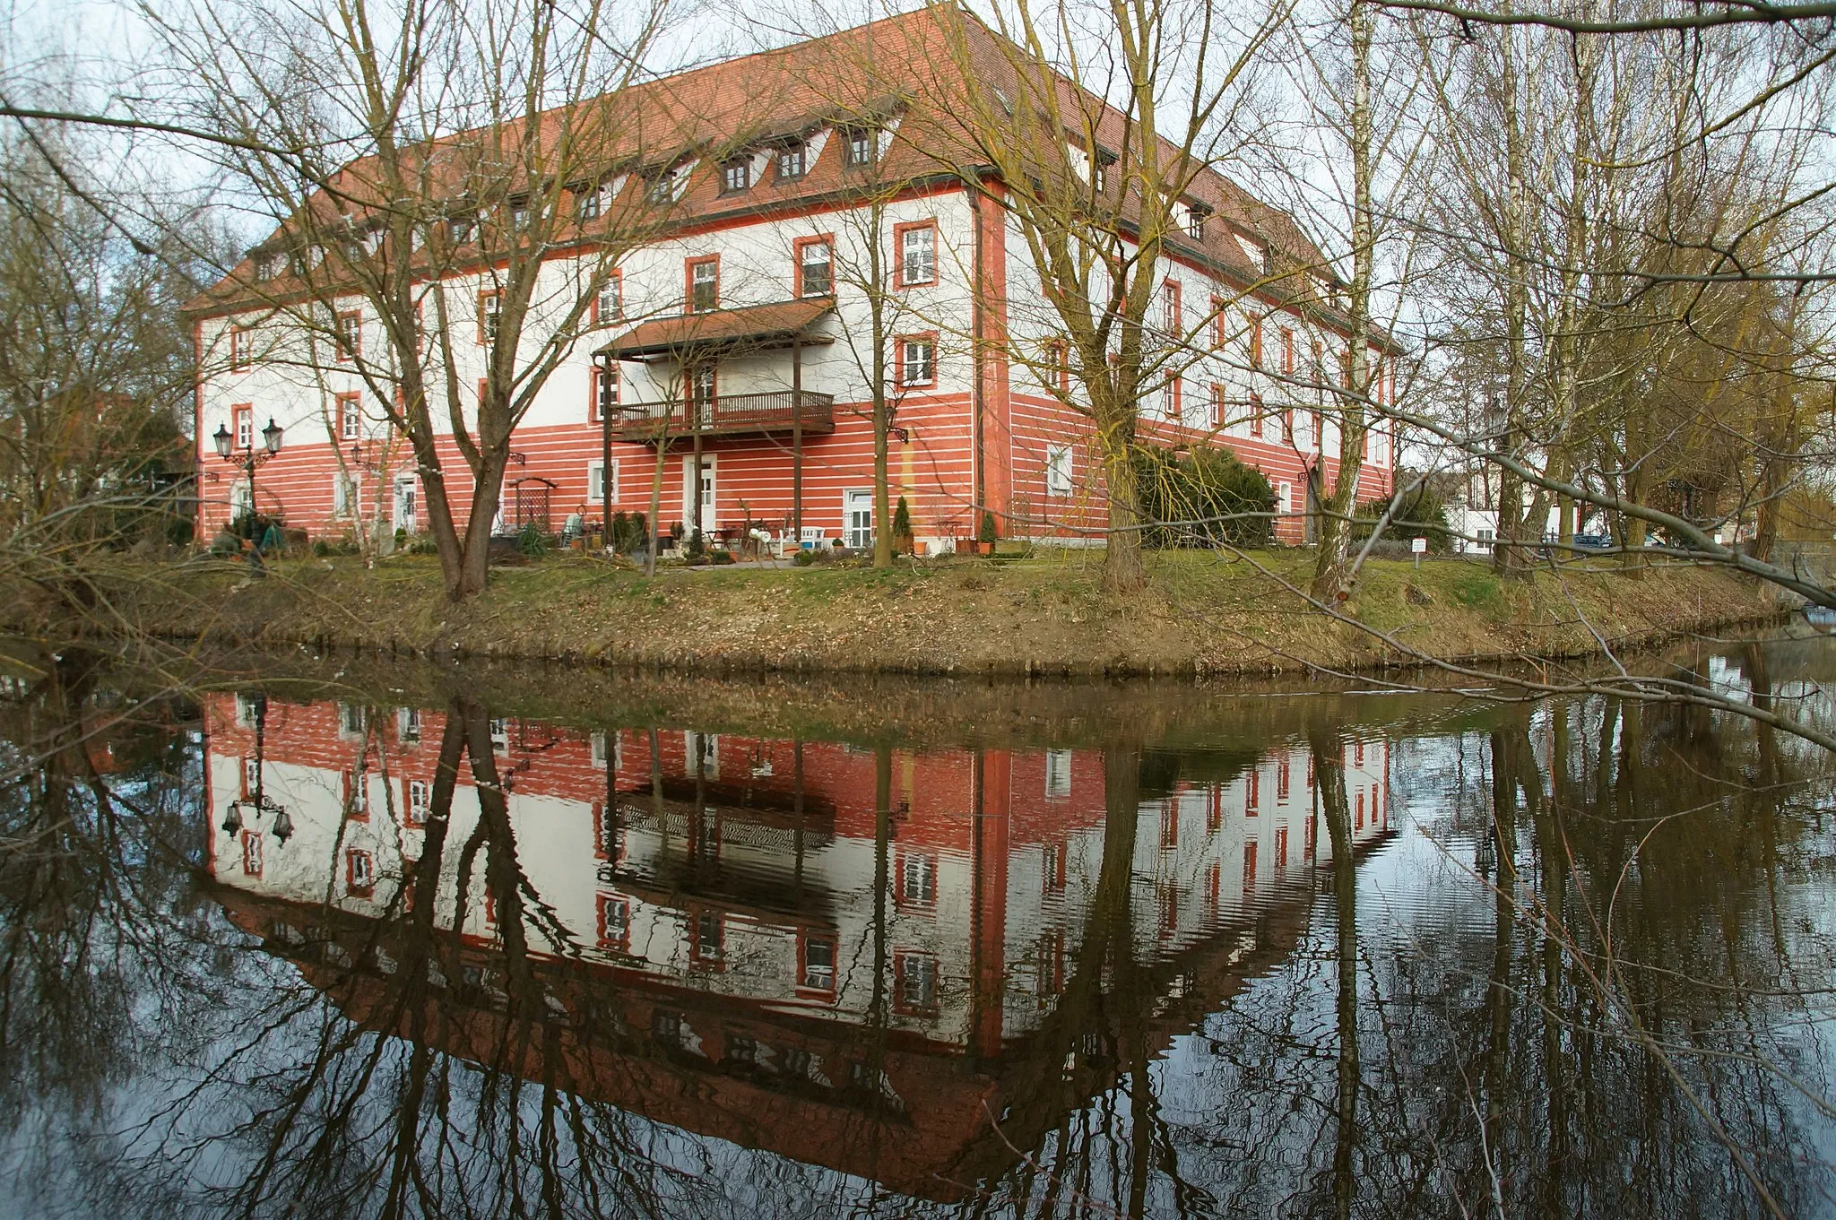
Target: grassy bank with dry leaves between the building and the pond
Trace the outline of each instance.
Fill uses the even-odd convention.
[[[1267,571],[1259,571],[1258,563]],[[431,558],[375,571],[294,560],[252,582],[230,561],[116,565],[101,578],[123,620],[173,638],[365,648],[422,655],[564,659],[685,671],[852,673],[1274,673],[1405,664],[1406,653],[1313,611],[1311,556],[1256,563],[1149,556],[1149,587],[1103,593],[1100,556],[957,560],[872,571],[666,572],[646,580],[586,560],[492,572],[466,605],[441,596]],[[1346,607],[1441,659],[1579,657],[1774,613],[1726,572],[1610,567],[1502,582],[1482,563],[1371,561]]]

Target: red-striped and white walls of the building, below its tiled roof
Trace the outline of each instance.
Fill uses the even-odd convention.
[[[914,127],[894,121],[879,132],[887,163],[896,160],[901,139],[918,138],[909,134]],[[817,128],[806,136],[812,183],[845,182],[839,161],[846,156],[846,139],[835,134],[837,128]],[[767,178],[771,154],[762,152],[758,163],[760,176]],[[795,299],[802,288],[800,244],[826,238],[834,251],[835,308],[810,328],[800,383],[804,391],[834,396],[834,431],[804,437],[804,527],[848,538],[850,525],[863,525],[861,517],[850,519],[850,506],[859,510],[870,503],[868,371],[876,363],[876,336],[857,270],[879,264],[890,268],[894,301],[890,334],[883,327],[879,336],[887,341],[887,382],[898,398],[890,481],[894,495],[911,505],[920,550],[975,534],[984,510],[995,514],[1008,538],[1102,539],[1103,492],[1076,380],[1054,387],[1047,380],[1056,378],[1034,372],[1050,365],[1043,354],[1061,327],[1037,288],[1017,220],[988,194],[951,180],[912,176],[912,185],[894,202],[878,205],[848,202],[846,191],[812,189],[778,191],[769,205],[742,207],[731,191],[720,189],[718,176],[720,167],[712,163],[688,167],[687,191],[705,200],[685,211],[666,238],[621,261],[622,316],[615,319],[610,310],[608,316],[595,310],[595,321],[604,325],[578,336],[514,433],[505,481],[553,484],[551,528],[577,505],[586,505],[588,519],[602,512],[589,482],[597,482],[593,468],[600,462],[602,442],[593,352],[641,321],[688,308],[690,264],[707,259],[718,259],[722,310]],[[644,187],[633,182],[622,189]],[[905,284],[901,246],[914,226],[931,226],[935,275]],[[1149,323],[1162,334],[1177,332],[1193,356],[1179,371],[1177,389],[1159,383],[1159,376],[1149,385],[1142,400],[1142,431],[1164,442],[1228,444],[1276,484],[1278,508],[1294,514],[1278,532],[1296,541],[1305,510],[1305,471],[1316,464],[1326,479],[1333,477],[1338,435],[1329,394],[1322,404],[1318,391],[1289,387],[1337,382],[1344,338],[1335,332],[1337,314],[1305,305],[1318,295],[1282,295],[1261,286],[1267,277],[1243,272],[1248,238],[1226,224],[1223,213],[1212,227],[1204,240],[1170,244],[1159,268],[1164,288]],[[1234,250],[1232,242],[1243,248]],[[870,244],[879,244],[878,262]],[[532,305],[532,334],[525,332],[531,354],[543,338],[542,319],[560,317],[573,306],[584,257],[593,255],[562,250],[551,259],[553,273]],[[1305,279],[1305,273],[1294,275]],[[448,303],[465,303],[448,306],[450,325],[459,332],[461,387],[476,385],[485,374],[483,323],[468,310],[488,277],[490,268],[479,268],[442,281]],[[290,334],[285,310],[218,303],[198,312],[198,527],[204,538],[230,519],[244,494],[237,466],[217,457],[211,435],[218,426],[257,433],[270,418],[286,429],[286,442],[257,473],[255,495],[263,512],[312,536],[347,534],[358,521],[371,519],[411,532],[426,525],[424,503],[415,495],[413,457],[406,444],[387,440],[384,413],[373,402],[376,378],[371,376],[371,389],[365,389],[358,372],[365,352],[387,350],[382,328],[365,316],[360,297],[336,301],[332,308],[349,317],[356,350],[330,350],[336,345]],[[1256,334],[1259,339],[1252,338]],[[905,338],[935,343],[935,371],[922,383],[901,383]],[[626,407],[681,393],[676,389],[679,367],[619,367]],[[1375,396],[1386,402],[1394,394],[1394,376],[1386,361],[1377,367]],[[1315,369],[1333,372],[1315,376]],[[718,361],[714,393],[722,398],[782,393],[791,389],[791,352],[767,350]],[[444,404],[435,404],[435,420],[444,415]],[[1373,431],[1366,457],[1360,501],[1390,490],[1390,438],[1383,431]],[[659,501],[665,530],[690,519],[685,499],[690,460],[683,440],[665,453]],[[442,446],[441,462],[463,517],[470,475],[452,444]],[[709,437],[703,462],[712,484],[712,510],[703,514],[703,528],[788,523],[793,488],[788,433]],[[654,446],[613,442],[611,508],[648,512],[655,470]],[[505,499],[514,499],[509,490]]]

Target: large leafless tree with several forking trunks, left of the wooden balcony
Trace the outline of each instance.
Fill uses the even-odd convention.
[[[356,369],[452,600],[485,587],[516,426],[685,185],[674,121],[628,105],[665,6],[143,9],[163,105],[233,134],[213,149],[281,222],[204,305],[268,312],[283,361]]]

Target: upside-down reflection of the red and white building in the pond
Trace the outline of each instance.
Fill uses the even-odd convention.
[[[488,721],[494,831],[472,761],[441,794],[457,728],[213,697],[209,871],[239,926],[367,1027],[501,1068],[521,1022],[520,1075],[929,1198],[1114,1082],[1107,1018],[1065,1011],[1080,969],[1114,983],[1113,952],[1080,958],[1092,936],[1142,963],[1155,994],[1129,1004],[1160,1053],[1293,948],[1331,857],[1305,743],[911,752]],[[1357,851],[1390,833],[1388,763],[1346,739]]]

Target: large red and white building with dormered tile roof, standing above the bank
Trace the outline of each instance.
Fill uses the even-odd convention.
[[[977,73],[988,81],[966,84],[949,66],[964,53],[990,64]],[[608,494],[613,512],[646,512],[655,479],[663,528],[694,521],[690,437],[700,431],[703,528],[782,527],[800,510],[804,527],[867,545],[878,369],[894,404],[890,482],[911,505],[920,550],[973,534],[984,510],[1010,538],[1102,538],[1092,426],[1078,378],[1059,369],[1063,327],[1002,205],[1002,183],[971,163],[960,130],[951,134],[966,90],[988,86],[1008,103],[999,86],[1006,62],[993,33],[951,6],[931,6],[621,95],[617,105],[650,116],[633,127],[668,132],[655,143],[672,152],[644,160],[637,149],[608,161],[602,176],[571,189],[571,205],[599,216],[643,198],[666,211],[578,312],[516,427],[505,528],[525,519],[554,528],[577,505],[595,519]],[[1076,97],[1094,106],[1096,139],[1069,132],[1061,161],[1091,191],[1120,191],[1105,182],[1114,152],[1103,139],[1127,139],[1124,117]],[[523,205],[507,204],[505,224]],[[1335,394],[1326,387],[1340,385],[1346,367],[1342,286],[1291,216],[1217,172],[1193,178],[1181,216],[1155,268],[1148,319],[1175,358],[1144,389],[1144,433],[1228,444],[1269,475],[1278,508],[1293,514],[1280,534],[1300,539],[1309,470],[1331,477],[1337,466]],[[474,222],[455,205],[444,235],[455,250]],[[380,248],[360,216],[351,226],[349,250]],[[602,250],[584,231],[545,250],[523,334],[531,360],[553,336],[543,319],[569,312],[578,301],[571,286]],[[261,512],[316,536],[360,521],[409,532],[426,525],[422,471],[387,426],[378,393],[389,380],[376,363],[387,338],[362,294],[290,279],[318,257],[283,226],[193,303],[206,536],[248,495],[213,435],[228,429],[239,448],[259,448],[270,418],[286,442],[257,477]],[[439,272],[446,299],[465,308],[457,317],[446,310],[455,376],[430,382],[459,385],[461,398],[485,376],[498,273],[483,250]],[[883,288],[870,294],[872,284]],[[299,336],[303,301],[334,319],[318,336]],[[1386,352],[1371,356],[1371,396],[1392,400]],[[444,420],[446,404],[431,415]],[[470,475],[450,429],[441,446],[463,521]],[[1383,429],[1368,438],[1366,459],[1360,499],[1388,492]]]

